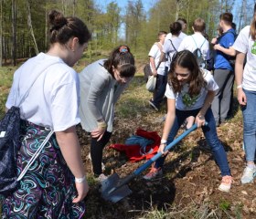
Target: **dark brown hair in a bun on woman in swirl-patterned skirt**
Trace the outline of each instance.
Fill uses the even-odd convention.
[[[73,36],[78,37],[80,45],[91,39],[87,26],[76,16],[63,16],[60,12],[52,10],[48,14],[49,42],[50,44],[66,44]]]

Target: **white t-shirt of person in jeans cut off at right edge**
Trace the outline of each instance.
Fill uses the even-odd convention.
[[[237,51],[246,54],[246,65],[243,69],[242,88],[256,91],[256,41],[251,38],[250,26],[240,30],[234,45]]]

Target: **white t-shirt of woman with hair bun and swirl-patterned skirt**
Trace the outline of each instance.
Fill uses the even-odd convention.
[[[20,106],[23,120],[54,131],[67,130],[80,123],[78,74],[61,58],[44,53],[28,59],[16,70],[6,108],[18,106],[33,81]]]

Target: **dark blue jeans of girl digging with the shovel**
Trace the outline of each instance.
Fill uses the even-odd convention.
[[[167,139],[167,144],[169,144],[170,142],[172,142],[175,139],[176,133],[179,130],[182,123],[184,122],[184,120],[186,120],[187,117],[189,117],[189,116],[196,117],[199,110],[200,109],[198,109],[198,110],[176,110],[176,119],[175,119],[174,125],[169,133],[169,136]],[[205,115],[205,119],[208,121],[208,126],[203,126],[202,130],[203,130],[204,135],[208,141],[208,145],[210,146],[211,151],[213,152],[214,158],[215,158],[217,164],[219,165],[221,175],[222,176],[230,175],[227,154],[226,154],[226,151],[224,151],[224,148],[217,136],[216,124],[215,124],[215,120],[214,120],[211,109],[208,109],[208,111]],[[159,158],[155,162],[155,168],[163,167],[165,158],[166,158],[166,156]]]

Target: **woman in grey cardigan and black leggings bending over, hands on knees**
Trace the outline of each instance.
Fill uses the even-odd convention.
[[[91,63],[80,72],[80,119],[91,133],[91,162],[94,177],[103,181],[102,151],[110,141],[114,105],[135,74],[130,48],[116,47],[107,59]]]

